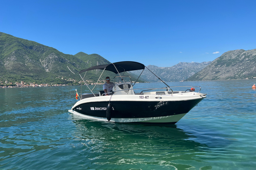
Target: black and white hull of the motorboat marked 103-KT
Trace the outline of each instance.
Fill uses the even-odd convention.
[[[78,101],[69,112],[87,119],[109,122],[175,124],[205,97],[195,92],[98,96]],[[110,108],[107,107],[109,103]]]

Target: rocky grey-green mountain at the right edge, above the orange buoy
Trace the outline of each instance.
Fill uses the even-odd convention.
[[[256,49],[227,51],[187,81],[230,80],[256,77]]]

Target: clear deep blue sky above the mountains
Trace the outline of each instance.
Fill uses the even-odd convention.
[[[170,67],[256,48],[255,0],[1,0],[0,32],[65,54]]]

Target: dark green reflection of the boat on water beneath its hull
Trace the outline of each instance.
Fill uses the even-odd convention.
[[[177,152],[179,147],[181,150],[184,148],[208,148],[206,144],[194,141],[193,139],[197,138],[195,135],[177,128],[177,125],[109,124],[101,121],[80,119],[76,115],[72,119],[77,127],[77,134],[74,135],[79,137],[79,140],[86,140],[91,144],[113,145],[116,147],[125,145],[123,147],[138,147],[139,149],[139,145],[144,143],[148,147],[158,145],[159,151],[162,147],[166,148],[166,152],[172,152],[172,150]],[[135,143],[138,146],[135,146]],[[154,149],[157,150],[157,147]]]

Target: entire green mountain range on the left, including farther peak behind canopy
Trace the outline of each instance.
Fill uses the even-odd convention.
[[[0,32],[1,81],[68,84],[65,79],[80,80],[80,70],[108,63],[98,54],[64,54],[55,48]],[[101,73],[101,70],[89,71],[86,79],[97,81]],[[101,80],[106,76],[114,77],[116,74],[104,71]]]

